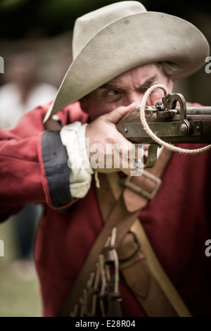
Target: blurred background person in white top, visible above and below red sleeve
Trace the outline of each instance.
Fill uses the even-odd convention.
[[[39,57],[35,51],[22,51],[8,56],[4,85],[0,87],[0,128],[13,128],[25,113],[50,102],[57,89],[39,80]],[[13,270],[28,279],[34,276],[33,244],[41,206],[28,204],[13,216],[12,227],[17,243]]]

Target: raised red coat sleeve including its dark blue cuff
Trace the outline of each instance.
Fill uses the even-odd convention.
[[[0,130],[0,221],[26,204],[72,204],[68,154],[59,132],[44,130],[48,106],[24,115],[12,130]]]

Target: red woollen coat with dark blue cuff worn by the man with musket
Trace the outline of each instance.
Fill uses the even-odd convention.
[[[34,257],[44,316],[56,316],[103,222],[94,183],[84,199],[70,195],[65,147],[58,132],[44,132],[48,106],[27,113],[13,130],[0,130],[0,220],[25,204],[43,204]],[[58,115],[63,124],[87,121],[79,103]],[[140,216],[155,253],[193,316],[211,316],[211,257],[205,256],[205,241],[211,239],[210,165],[210,151],[196,156],[174,153],[162,187]],[[60,211],[67,206],[72,208]],[[124,280],[120,290],[124,316],[144,316]]]

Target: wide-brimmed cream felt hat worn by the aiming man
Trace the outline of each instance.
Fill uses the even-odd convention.
[[[146,11],[138,1],[122,1],[77,18],[72,64],[44,121],[109,80],[139,65],[170,61],[174,79],[200,69],[210,48],[191,23],[173,15]]]

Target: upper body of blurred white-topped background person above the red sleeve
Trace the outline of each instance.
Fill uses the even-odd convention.
[[[55,86],[39,81],[39,70],[39,58],[33,51],[8,58],[5,84],[0,87],[0,128],[14,127],[25,113],[56,96]]]

